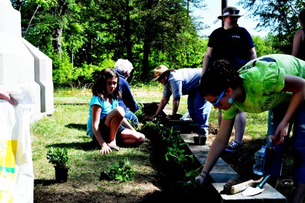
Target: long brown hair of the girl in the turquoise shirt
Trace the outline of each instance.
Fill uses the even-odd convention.
[[[120,77],[111,68],[105,68],[101,70],[101,72],[98,74],[95,83],[92,86],[92,93],[94,96],[99,96],[101,99],[105,100],[105,95],[106,95],[106,82],[107,79],[109,78],[118,78],[118,83],[115,91],[109,95],[110,98],[113,99],[118,99],[118,97],[121,97],[121,92],[120,92]]]

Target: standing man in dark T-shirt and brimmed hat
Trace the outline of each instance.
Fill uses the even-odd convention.
[[[208,42],[208,48],[203,58],[202,74],[215,60],[226,59],[238,70],[249,60],[256,58],[254,43],[249,32],[237,24],[241,17],[235,7],[226,7],[218,19],[224,21],[224,27],[214,30]],[[221,124],[222,113],[219,110],[218,123]],[[225,149],[228,152],[236,152],[242,147],[243,136],[246,127],[246,113],[239,111],[235,118],[235,139]]]

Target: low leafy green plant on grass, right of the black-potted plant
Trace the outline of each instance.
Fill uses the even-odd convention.
[[[135,173],[133,166],[130,166],[129,160],[127,157],[124,158],[124,161],[119,161],[119,164],[114,164],[111,167],[107,167],[107,175],[111,178],[118,179],[121,181],[133,180],[132,175]]]

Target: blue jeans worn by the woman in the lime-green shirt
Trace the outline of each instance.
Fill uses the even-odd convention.
[[[281,104],[269,110],[267,135],[274,135],[277,126],[286,114],[288,105],[289,103]],[[289,129],[291,129],[292,124],[293,180],[305,183],[305,103],[296,110],[290,121]],[[280,176],[284,148],[288,145],[288,137],[289,134],[284,138],[284,143],[273,146],[274,149],[266,147],[263,166],[265,174]]]

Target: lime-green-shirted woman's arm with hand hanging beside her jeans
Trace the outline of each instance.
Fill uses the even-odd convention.
[[[292,92],[292,97],[287,112],[274,133],[273,139],[275,140],[277,139],[278,133],[280,133],[280,138],[274,141],[275,145],[278,145],[284,141],[284,137],[287,136],[289,122],[293,114],[304,102],[305,79],[293,75],[285,75],[285,87],[282,91]]]

